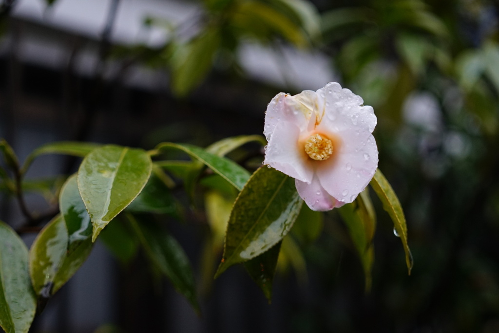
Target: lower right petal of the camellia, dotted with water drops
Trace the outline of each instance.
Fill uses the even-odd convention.
[[[352,202],[371,181],[378,167],[374,137],[343,141],[334,158],[323,161],[316,174],[324,189],[341,202]]]

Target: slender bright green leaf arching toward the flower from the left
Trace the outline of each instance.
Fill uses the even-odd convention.
[[[242,166],[229,159],[208,153],[206,150],[200,147],[188,144],[174,143],[162,143],[157,147],[158,150],[166,148],[175,148],[186,152],[191,157],[197,159],[216,173],[220,174],[227,181],[233,184],[234,187],[236,187],[238,190],[243,189],[243,186],[250,178],[250,172],[248,172]]]

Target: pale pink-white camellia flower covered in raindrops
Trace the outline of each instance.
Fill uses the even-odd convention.
[[[295,178],[301,198],[326,211],[355,200],[378,167],[370,106],[336,82],[317,91],[279,93],[265,113],[263,164]]]

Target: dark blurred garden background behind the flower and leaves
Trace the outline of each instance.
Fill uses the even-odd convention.
[[[125,266],[98,243],[31,332],[499,332],[498,16],[486,0],[0,1],[0,137],[21,160],[61,140],[152,149],[261,134],[276,93],[338,81],[374,107],[414,257],[408,276],[373,198],[369,293],[333,210],[299,244],[306,269],[279,264],[271,305],[235,267],[199,317],[143,256]],[[44,156],[28,177],[77,165]],[[21,223],[1,199],[0,219]],[[169,225],[199,277],[203,228],[189,216]]]

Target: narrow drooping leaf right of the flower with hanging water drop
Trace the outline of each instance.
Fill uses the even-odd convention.
[[[392,218],[394,229],[399,235],[404,247],[407,269],[409,270],[410,275],[414,263],[409,244],[407,243],[407,224],[399,198],[383,173],[381,173],[380,169],[376,170],[370,184],[383,203],[383,208]]]

